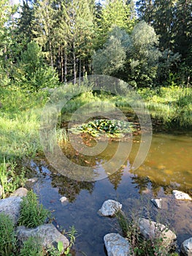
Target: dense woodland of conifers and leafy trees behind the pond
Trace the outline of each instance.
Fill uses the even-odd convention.
[[[191,0],[0,1],[1,86],[38,91],[85,75],[189,86]]]

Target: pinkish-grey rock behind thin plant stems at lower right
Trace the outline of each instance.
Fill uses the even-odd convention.
[[[164,246],[169,246],[177,238],[172,230],[169,230],[165,225],[149,219],[139,219],[139,230],[146,239],[163,238]]]

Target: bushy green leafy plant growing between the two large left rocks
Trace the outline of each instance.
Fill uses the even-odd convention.
[[[29,191],[20,203],[18,224],[26,227],[37,227],[44,224],[47,217],[50,217],[50,211],[39,204],[34,192]]]

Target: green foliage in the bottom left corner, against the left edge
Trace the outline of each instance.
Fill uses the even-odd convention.
[[[0,253],[2,256],[11,256],[16,248],[16,237],[12,219],[0,213]]]

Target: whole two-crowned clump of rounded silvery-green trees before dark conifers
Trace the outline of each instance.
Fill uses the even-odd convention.
[[[115,27],[110,37],[93,56],[96,73],[114,75],[137,86],[151,86],[157,76],[158,36],[144,20],[137,23],[131,35]]]

